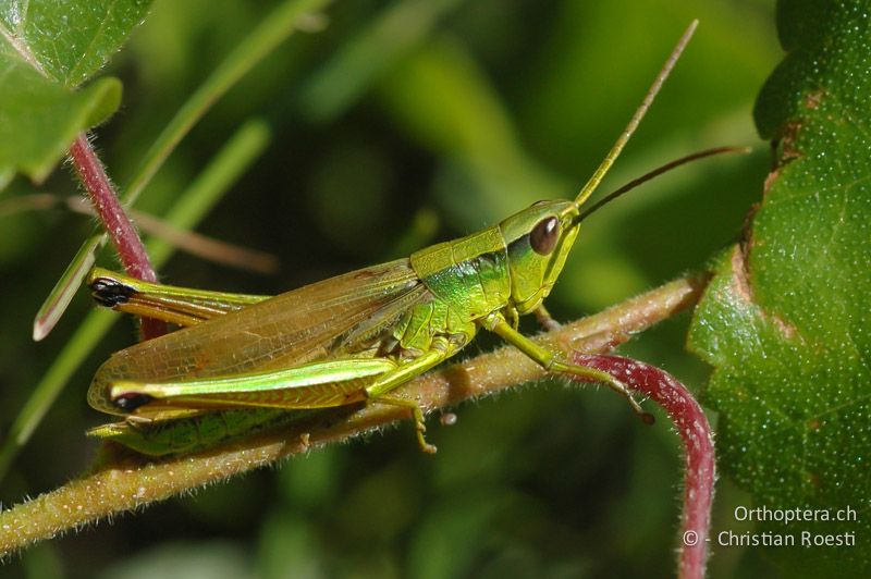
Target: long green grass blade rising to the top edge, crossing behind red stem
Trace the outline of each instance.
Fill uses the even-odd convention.
[[[170,153],[206,111],[218,101],[240,78],[260,60],[284,41],[300,20],[308,13],[320,10],[330,0],[290,0],[268,14],[261,24],[231,52],[205,83],[185,102],[145,156],[142,167],[124,189],[122,202],[132,207]],[[96,239],[95,239],[96,237]],[[63,315],[74,292],[87,274],[83,267],[93,261],[94,251],[106,243],[106,235],[90,236],[76,252],[58,283],[49,293],[34,321],[34,333],[45,337]]]

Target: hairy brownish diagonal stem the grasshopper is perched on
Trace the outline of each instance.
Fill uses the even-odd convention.
[[[537,341],[563,352],[610,350],[630,334],[694,305],[706,283],[707,278],[699,276],[676,280],[542,334]],[[391,395],[415,399],[429,411],[543,375],[541,368],[519,350],[504,347],[419,377]],[[404,410],[378,404],[353,414],[347,409],[330,410],[281,431],[265,431],[206,452],[162,460],[107,444],[90,472],[0,513],[0,552],[19,550],[85,523],[407,419]]]

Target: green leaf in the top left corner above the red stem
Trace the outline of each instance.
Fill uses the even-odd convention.
[[[150,0],[0,3],[0,188],[48,175],[79,132],[111,115],[121,83],[76,90],[145,16]]]

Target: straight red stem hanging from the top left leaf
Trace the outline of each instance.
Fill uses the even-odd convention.
[[[70,147],[70,158],[76,174],[85,186],[85,192],[94,206],[97,218],[118,251],[124,271],[133,278],[146,282],[157,282],[157,274],[151,268],[148,254],[145,251],[136,227],[118,200],[112,182],[103,168],[90,141],[84,133],[79,133]],[[150,318],[142,319],[143,340],[150,340],[167,333],[167,324]]]

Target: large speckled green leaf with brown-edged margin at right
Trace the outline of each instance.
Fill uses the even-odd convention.
[[[721,470],[755,506],[852,509],[846,521],[763,520],[757,532],[796,541],[769,554],[793,575],[868,576],[871,7],[784,1],[778,28],[788,54],[756,108],[776,165],[745,243],[720,261],[690,347],[715,367],[707,399],[720,411]],[[826,535],[848,544],[802,545]]]

